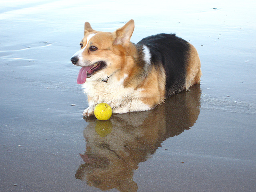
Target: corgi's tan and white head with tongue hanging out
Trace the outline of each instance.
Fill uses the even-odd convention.
[[[81,66],[77,83],[83,84],[86,78],[106,81],[108,77],[122,69],[122,64],[130,55],[130,38],[134,30],[134,20],[130,20],[115,32],[98,32],[88,22],[84,24],[84,38],[81,49],[71,61]]]

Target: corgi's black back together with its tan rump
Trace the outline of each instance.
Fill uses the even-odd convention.
[[[146,46],[150,50],[151,64],[164,67],[166,97],[200,82],[198,53],[184,39],[175,34],[157,34],[140,40],[136,46]],[[197,70],[191,71],[191,68]]]

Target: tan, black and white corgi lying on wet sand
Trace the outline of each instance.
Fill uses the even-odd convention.
[[[192,44],[175,34],[157,34],[130,42],[134,20],[114,32],[84,24],[81,49],[71,62],[82,67],[77,83],[88,96],[83,116],[93,116],[99,103],[113,113],[146,111],[173,94],[200,83],[200,59]]]

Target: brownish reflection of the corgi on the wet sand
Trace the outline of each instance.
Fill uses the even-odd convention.
[[[200,86],[174,95],[154,110],[113,114],[108,121],[87,118],[86,152],[76,178],[101,190],[136,192],[133,171],[154,154],[168,137],[196,122],[200,112]]]

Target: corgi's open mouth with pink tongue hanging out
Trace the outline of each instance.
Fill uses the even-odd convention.
[[[106,66],[106,63],[104,61],[99,61],[91,66],[82,67],[77,76],[77,83],[85,83],[86,78],[91,77],[96,71],[101,70],[104,66]]]

